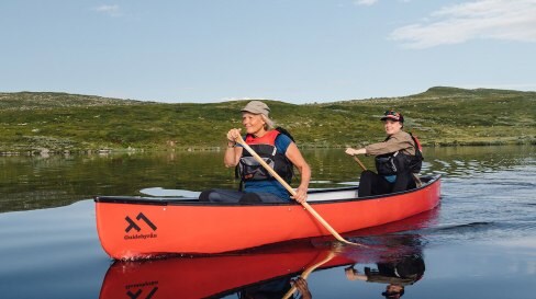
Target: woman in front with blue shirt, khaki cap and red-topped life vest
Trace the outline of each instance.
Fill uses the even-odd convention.
[[[227,168],[238,165],[241,186],[243,185],[244,191],[209,189],[201,193],[200,200],[231,203],[277,203],[289,202],[290,198],[299,203],[306,200],[311,169],[288,133],[275,128],[273,122],[268,117],[269,113],[268,105],[260,101],[247,103],[242,110],[242,124],[246,130],[244,140],[288,183],[292,179],[293,168],[298,169],[301,182],[295,189],[295,196],[291,197],[289,192],[254,157],[236,143],[242,129],[233,128],[227,133],[224,163]]]

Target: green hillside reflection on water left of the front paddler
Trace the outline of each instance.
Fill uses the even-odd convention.
[[[0,157],[0,212],[58,207],[152,187],[233,187],[217,152]],[[180,188],[180,187],[179,187]]]

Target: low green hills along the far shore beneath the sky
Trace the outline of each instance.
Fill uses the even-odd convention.
[[[247,101],[157,103],[54,92],[0,93],[0,156],[224,150]],[[300,148],[381,141],[402,112],[423,146],[536,145],[536,92],[436,87],[409,96],[289,104],[265,101]]]

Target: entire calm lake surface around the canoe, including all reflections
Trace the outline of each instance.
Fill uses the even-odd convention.
[[[312,187],[357,183],[343,151],[304,151]],[[443,175],[440,206],[345,235],[368,249],[323,238],[232,255],[108,257],[92,196],[235,188],[222,154],[0,157],[0,298],[281,298],[313,265],[313,298],[383,298],[390,283],[405,286],[402,298],[534,298],[534,146],[425,149],[423,173]]]

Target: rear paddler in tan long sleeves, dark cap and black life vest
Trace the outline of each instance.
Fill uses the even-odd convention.
[[[412,172],[418,172],[422,156],[418,141],[402,130],[404,117],[395,111],[386,111],[381,117],[387,138],[365,148],[347,148],[346,153],[376,156],[378,173],[366,170],[359,179],[359,197],[402,192],[415,187]]]

